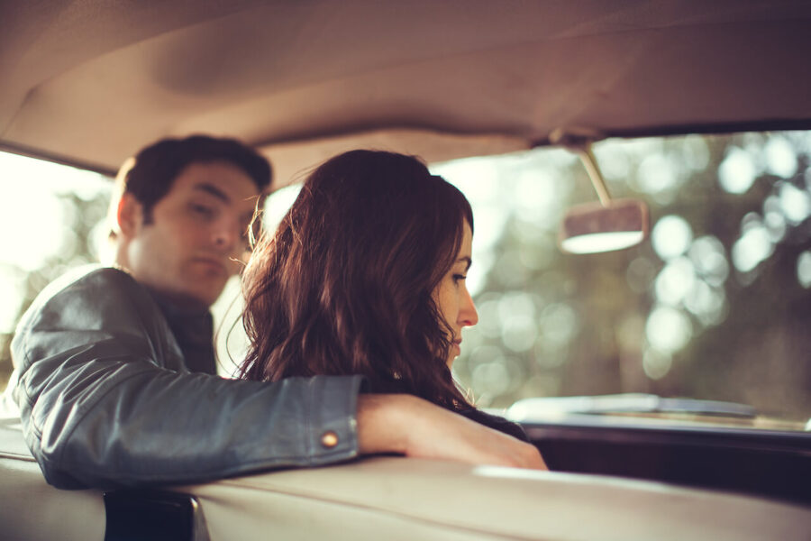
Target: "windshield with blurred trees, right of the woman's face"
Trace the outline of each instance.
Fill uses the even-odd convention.
[[[482,407],[642,392],[742,402],[801,428],[811,416],[811,133],[594,150],[612,196],[651,207],[649,242],[560,252],[566,208],[597,200],[568,151],[433,166],[476,221],[479,323],[463,332],[458,379]]]

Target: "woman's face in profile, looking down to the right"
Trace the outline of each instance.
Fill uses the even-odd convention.
[[[471,263],[472,245],[473,233],[470,231],[470,225],[465,221],[459,253],[453,261],[451,270],[442,277],[436,289],[433,290],[433,301],[453,331],[449,336],[451,351],[448,355],[448,368],[451,368],[453,360],[461,352],[462,327],[474,326],[478,323],[476,306],[473,304],[473,298],[470,297],[468,286],[465,284]]]

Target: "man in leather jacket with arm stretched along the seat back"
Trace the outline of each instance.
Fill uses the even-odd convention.
[[[119,175],[115,267],[42,292],[12,344],[11,397],[60,488],[188,483],[394,452],[543,468],[532,445],[360,377],[214,375],[208,311],[239,271],[270,180],[239,142],[157,142]]]

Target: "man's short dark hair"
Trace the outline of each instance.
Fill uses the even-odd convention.
[[[131,167],[123,171],[123,176],[119,173],[122,193],[132,194],[141,203],[145,224],[152,221],[152,207],[169,193],[175,179],[189,164],[226,161],[245,171],[260,190],[267,188],[272,178],[269,161],[257,151],[236,139],[208,135],[162,139],[129,161]]]

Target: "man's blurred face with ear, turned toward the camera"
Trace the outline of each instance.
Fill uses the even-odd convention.
[[[231,163],[191,163],[152,207],[150,224],[141,204],[125,196],[118,262],[180,304],[211,306],[241,269],[258,196],[251,177]]]

